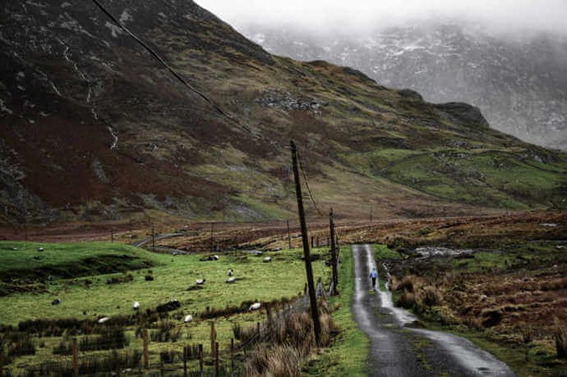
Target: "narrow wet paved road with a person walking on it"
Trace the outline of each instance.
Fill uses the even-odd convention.
[[[416,318],[392,305],[389,291],[371,289],[376,266],[369,245],[353,245],[352,311],[371,340],[370,376],[514,376],[510,368],[470,341],[432,330],[405,327]]]

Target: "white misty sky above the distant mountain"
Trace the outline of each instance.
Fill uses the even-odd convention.
[[[359,29],[415,18],[458,18],[507,32],[543,30],[567,35],[567,0],[196,0],[224,21]]]

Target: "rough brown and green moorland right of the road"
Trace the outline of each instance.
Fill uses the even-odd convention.
[[[518,376],[563,376],[554,336],[565,332],[566,258],[563,241],[534,241],[388,265],[396,305],[428,327],[467,337]]]

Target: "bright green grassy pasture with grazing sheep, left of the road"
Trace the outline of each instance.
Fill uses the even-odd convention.
[[[13,250],[16,248],[17,250]],[[38,251],[38,248],[44,248]],[[313,253],[322,250],[315,249]],[[325,250],[326,251],[326,250]],[[272,261],[263,262],[269,255]],[[150,363],[159,363],[159,352],[181,352],[190,344],[210,347],[212,320],[200,314],[207,308],[223,309],[240,306],[246,301],[274,301],[292,298],[303,291],[304,262],[301,250],[250,255],[243,252],[220,254],[220,260],[201,261],[203,255],[163,255],[113,243],[39,244],[0,242],[0,275],[4,296],[0,297],[0,324],[17,325],[23,320],[76,318],[96,320],[102,316],[124,316],[135,313],[133,302],[140,302],[140,313],[176,298],[181,308],[169,312],[150,327],[152,332],[168,321],[171,333],[179,333],[173,341],[150,342]],[[111,261],[111,263],[109,262]],[[227,271],[235,270],[237,281],[226,284]],[[315,278],[328,277],[322,260],[313,262]],[[120,271],[120,272],[116,272]],[[35,274],[35,276],[34,276]],[[69,277],[74,274],[75,277]],[[153,277],[147,281],[146,277]],[[206,279],[196,287],[196,279]],[[114,282],[109,284],[109,282]],[[7,294],[7,296],[6,296]],[[60,298],[59,305],[52,305]],[[183,323],[191,314],[193,323]],[[253,326],[265,317],[264,311],[214,318],[220,349],[230,345],[234,337],[232,325]],[[142,348],[135,336],[137,326],[127,325],[128,349]],[[79,340],[81,335],[79,334]],[[47,359],[60,359],[53,349],[64,337],[33,337],[35,355],[18,356],[9,368],[21,370]],[[80,356],[86,353],[79,352]]]

